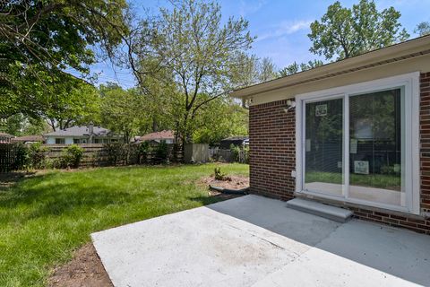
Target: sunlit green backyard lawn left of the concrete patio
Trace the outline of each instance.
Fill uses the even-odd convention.
[[[216,164],[49,171],[0,191],[0,286],[43,286],[90,233],[211,204]],[[243,164],[221,170],[248,174]]]

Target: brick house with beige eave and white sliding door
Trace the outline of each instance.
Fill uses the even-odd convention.
[[[430,234],[430,36],[233,93],[250,190]]]

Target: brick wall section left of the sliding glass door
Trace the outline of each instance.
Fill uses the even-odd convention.
[[[296,113],[287,100],[249,108],[250,188],[262,196],[293,197],[296,170]]]

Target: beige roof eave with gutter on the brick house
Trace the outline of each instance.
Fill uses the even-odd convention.
[[[410,39],[386,48],[379,48],[356,57],[348,57],[337,62],[321,65],[297,74],[280,77],[269,82],[254,84],[233,91],[231,96],[235,98],[247,98],[262,92],[276,91],[290,86],[312,83],[340,74],[353,73],[377,65],[386,65],[427,54],[430,54],[430,35],[417,39]]]

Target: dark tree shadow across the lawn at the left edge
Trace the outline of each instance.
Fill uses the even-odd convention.
[[[19,216],[22,221],[27,221],[64,213],[88,213],[91,209],[143,201],[154,196],[148,190],[129,193],[108,185],[86,184],[77,178],[59,182],[54,177],[56,174],[22,178],[0,193],[0,210],[4,212],[2,222],[16,221],[16,210],[22,210]]]

